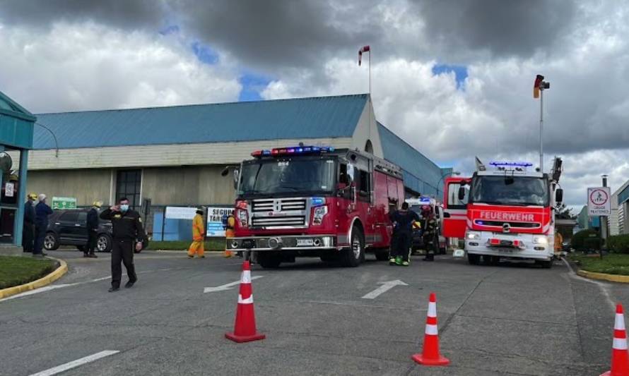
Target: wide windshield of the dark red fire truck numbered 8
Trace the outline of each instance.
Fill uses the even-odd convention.
[[[334,190],[335,166],[334,159],[320,157],[257,159],[245,162],[240,173],[238,195],[329,193]]]

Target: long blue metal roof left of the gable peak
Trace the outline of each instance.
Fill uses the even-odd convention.
[[[354,133],[368,95],[39,114],[59,148],[345,138]],[[35,149],[54,140],[35,127]]]

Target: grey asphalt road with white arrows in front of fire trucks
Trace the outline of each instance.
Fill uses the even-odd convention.
[[[136,257],[139,281],[107,293],[109,256],[52,252],[70,271],[52,288],[0,301],[0,375],[32,375],[102,351],[119,351],[63,375],[599,375],[609,370],[613,302],[629,288],[553,269],[471,266],[440,257],[358,268],[317,259],[252,275],[264,341],[234,344],[240,259],[184,254]],[[401,280],[371,299],[385,281]],[[123,283],[126,279],[123,277]],[[382,289],[381,289],[382,291]],[[442,353],[425,368],[428,294],[437,293]],[[373,296],[373,294],[372,294]]]

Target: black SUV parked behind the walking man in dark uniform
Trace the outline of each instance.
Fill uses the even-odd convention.
[[[48,218],[49,224],[44,238],[44,248],[56,250],[61,245],[76,245],[78,250],[84,251],[88,242],[89,211],[89,209],[55,210]],[[148,241],[145,241],[143,248],[147,246]],[[96,251],[110,252],[111,250],[112,222],[99,218]]]

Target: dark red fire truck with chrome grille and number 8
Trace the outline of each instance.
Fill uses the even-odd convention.
[[[365,250],[387,260],[389,210],[404,201],[401,169],[358,150],[295,146],[252,153],[236,171],[235,237],[262,267],[320,257],[348,267]]]

